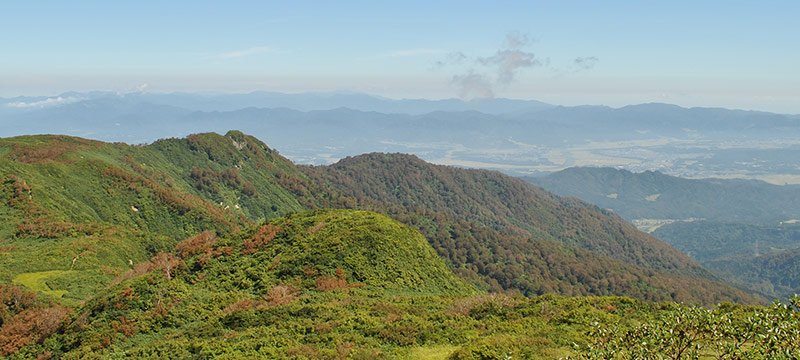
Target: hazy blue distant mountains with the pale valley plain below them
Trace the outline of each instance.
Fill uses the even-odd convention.
[[[530,175],[609,165],[672,175],[800,182],[800,116],[642,104],[553,106],[364,94],[65,93],[0,99],[0,136],[68,134],[131,144],[242,129],[298,163],[403,152]]]

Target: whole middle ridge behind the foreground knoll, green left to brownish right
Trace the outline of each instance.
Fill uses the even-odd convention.
[[[145,146],[18,137],[0,149],[7,220],[0,276],[66,301],[202,231],[228,234],[328,207],[374,210],[411,225],[456,274],[483,289],[756,301],[618,218],[494,172],[403,156],[383,163],[379,155],[358,158],[376,163],[352,174],[347,161],[298,168],[235,131]],[[392,181],[405,182],[391,190],[407,198],[386,195]]]

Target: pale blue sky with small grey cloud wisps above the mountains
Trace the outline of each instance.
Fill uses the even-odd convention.
[[[5,1],[0,96],[348,91],[800,114],[800,1]]]

